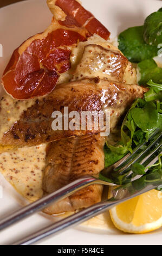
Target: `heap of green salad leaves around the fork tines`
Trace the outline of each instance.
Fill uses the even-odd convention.
[[[128,152],[133,151],[139,143],[148,141],[149,136],[155,129],[161,129],[162,131],[162,104],[158,99],[157,95],[162,93],[162,86],[160,84],[155,84],[152,81],[148,82],[153,85],[150,90],[154,92],[155,100],[148,100],[149,96],[145,99],[137,99],[133,103],[132,107],[127,112],[124,121],[121,126],[121,141],[116,145],[105,145],[105,167],[119,161]],[[155,91],[154,91],[154,89]],[[159,160],[160,164],[160,160]],[[153,166],[152,171],[157,170],[157,164]],[[161,168],[161,165],[160,165]],[[106,176],[109,181],[111,180],[115,184],[125,184],[129,182],[133,176],[144,175],[145,167],[141,166],[139,163],[134,163],[131,167],[133,174],[130,178],[127,178],[127,173],[120,174],[118,172],[112,172],[111,174],[101,173]],[[143,180],[141,179],[141,182]],[[137,184],[139,186],[139,184]]]

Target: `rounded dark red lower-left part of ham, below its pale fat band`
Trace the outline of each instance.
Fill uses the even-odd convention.
[[[30,99],[50,93],[60,74],[70,69],[71,50],[68,46],[87,40],[86,33],[83,36],[63,28],[41,37],[42,34],[37,39],[29,39],[30,44],[21,54],[23,45],[17,48],[4,71],[4,88],[16,99]],[[63,46],[66,47],[61,48]]]

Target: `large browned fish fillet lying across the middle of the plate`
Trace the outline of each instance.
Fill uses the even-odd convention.
[[[125,83],[109,82],[92,78],[69,82],[56,87],[53,93],[25,111],[20,120],[4,134],[0,144],[15,147],[39,145],[73,136],[93,135],[99,131],[53,131],[51,115],[68,106],[70,111],[100,111],[107,107],[111,112],[111,129],[113,129],[136,97],[143,97],[146,88]],[[0,112],[1,116],[1,112]]]

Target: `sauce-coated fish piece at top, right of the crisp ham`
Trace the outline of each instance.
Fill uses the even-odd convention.
[[[81,62],[74,72],[73,81],[99,76],[103,80],[122,82],[128,59],[119,51],[100,45],[87,45]]]

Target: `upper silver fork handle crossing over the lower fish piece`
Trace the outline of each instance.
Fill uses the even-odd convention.
[[[0,230],[9,227],[9,225],[14,224],[16,222],[19,222],[23,220],[24,218],[35,214],[38,211],[43,210],[51,203],[56,203],[59,200],[62,200],[71,194],[73,194],[76,191],[81,190],[84,187],[87,187],[88,185],[92,184],[103,184],[104,182],[90,176],[83,176],[67,186],[64,186],[60,188],[60,190],[57,190],[48,196],[44,196],[41,199],[38,199],[34,203],[31,203],[27,206],[24,206],[22,209],[14,212],[13,214],[3,218],[3,220],[0,220]]]

